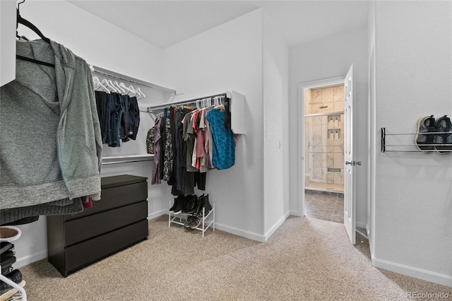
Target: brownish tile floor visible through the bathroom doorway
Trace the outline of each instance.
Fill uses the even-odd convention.
[[[344,194],[306,189],[304,196],[308,218],[344,223]]]

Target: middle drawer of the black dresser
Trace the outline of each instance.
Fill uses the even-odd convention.
[[[69,220],[64,223],[64,246],[83,242],[106,232],[147,220],[148,201],[105,211],[93,216]]]

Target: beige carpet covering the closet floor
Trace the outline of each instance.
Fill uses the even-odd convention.
[[[67,278],[47,260],[20,270],[30,301],[46,300],[407,300],[452,288],[371,266],[369,244],[344,226],[288,218],[266,243],[149,222],[149,240]]]

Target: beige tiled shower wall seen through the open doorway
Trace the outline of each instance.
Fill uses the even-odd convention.
[[[335,119],[340,118],[337,124],[328,122],[328,116],[306,117],[306,175],[309,182],[323,182],[328,184],[343,184],[344,175],[344,102],[343,85],[329,88],[305,90],[305,112],[310,114],[331,112]],[[319,102],[320,101],[320,102]],[[320,109],[321,105],[328,105]],[[340,112],[333,114],[333,112]],[[309,114],[309,113],[308,113]],[[328,135],[328,130],[340,131],[336,138]],[[311,166],[312,165],[312,166]],[[313,177],[310,176],[312,168]],[[338,168],[340,172],[328,172],[328,168]]]

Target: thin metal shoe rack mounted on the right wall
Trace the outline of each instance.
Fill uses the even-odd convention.
[[[426,151],[420,150],[417,148],[414,142],[414,138],[416,135],[425,135],[425,134],[452,134],[452,131],[441,131],[441,132],[428,132],[428,133],[410,133],[410,134],[388,134],[386,133],[386,128],[381,128],[381,153],[436,153],[435,149]],[[393,137],[390,143],[386,141],[389,137]],[[411,144],[409,142],[400,141],[402,138],[397,138],[397,136],[409,136],[412,141]],[[422,144],[422,146],[447,146],[447,148],[439,150],[440,152],[452,152],[452,143],[435,143],[435,144]]]

